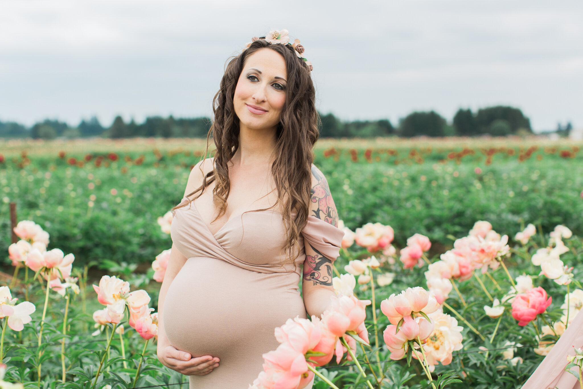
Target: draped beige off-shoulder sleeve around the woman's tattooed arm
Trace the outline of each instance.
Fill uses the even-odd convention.
[[[310,215],[304,229],[301,230],[301,234],[305,241],[326,258],[332,261],[336,260],[344,237],[344,232],[338,227]]]

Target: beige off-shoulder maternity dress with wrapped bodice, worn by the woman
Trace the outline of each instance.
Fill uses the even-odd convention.
[[[298,290],[304,240],[335,260],[344,233],[308,216],[294,268],[280,260],[281,213],[243,213],[213,235],[188,201],[182,199],[171,225],[172,241],[188,260],[168,288],[164,329],[178,350],[220,359],[212,373],[189,377],[191,389],[247,389],[263,369],[262,354],[279,345],[275,327],[307,317]]]

